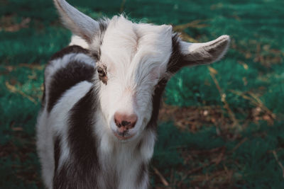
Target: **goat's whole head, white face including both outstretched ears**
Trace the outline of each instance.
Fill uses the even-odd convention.
[[[55,5],[97,59],[102,115],[109,132],[124,141],[141,136],[149,125],[160,81],[181,67],[217,61],[229,46],[227,35],[192,44],[180,40],[170,25],[132,23],[124,16],[94,21],[64,0]]]

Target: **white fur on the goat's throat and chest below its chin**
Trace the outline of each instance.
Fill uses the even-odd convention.
[[[96,127],[100,144],[99,160],[103,168],[103,175],[99,176],[101,177],[99,181],[104,181],[104,173],[116,171],[119,176],[117,188],[147,188],[147,175],[141,178],[141,185],[136,185],[136,180],[141,163],[148,164],[153,156],[155,133],[153,131],[143,132],[138,139],[132,139],[131,142],[119,142],[111,130],[104,127],[107,122],[102,113],[98,113],[96,120],[97,126],[101,126]],[[140,151],[137,151],[138,142],[141,142]],[[104,183],[101,185],[104,188]]]

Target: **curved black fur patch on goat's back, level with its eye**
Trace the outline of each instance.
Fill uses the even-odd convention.
[[[58,69],[53,74],[48,88],[48,112],[52,110],[55,103],[63,93],[81,81],[92,81],[94,67],[82,62],[72,61],[66,67]]]

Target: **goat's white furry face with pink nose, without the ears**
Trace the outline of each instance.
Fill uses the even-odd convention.
[[[153,91],[167,75],[171,49],[171,26],[135,24],[122,16],[109,21],[97,63],[99,94],[119,139],[140,135],[149,122]]]

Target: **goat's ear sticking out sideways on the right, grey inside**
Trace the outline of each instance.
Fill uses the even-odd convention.
[[[181,67],[216,62],[226,54],[229,43],[230,38],[228,35],[222,35],[216,40],[203,43],[180,41]]]

